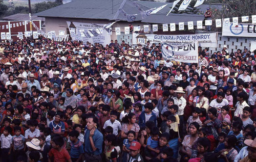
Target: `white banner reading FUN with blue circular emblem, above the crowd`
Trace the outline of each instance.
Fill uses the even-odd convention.
[[[198,42],[176,46],[162,43],[162,56],[166,60],[174,60],[183,63],[198,63]]]

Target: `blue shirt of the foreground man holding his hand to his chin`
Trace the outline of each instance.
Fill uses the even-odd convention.
[[[90,130],[86,130],[84,133],[84,151],[87,153],[91,153],[94,155],[100,155],[102,152],[102,144],[103,144],[103,135],[102,133],[96,129],[93,134],[93,143],[94,146],[97,148],[95,151],[93,151],[91,143],[90,143]]]

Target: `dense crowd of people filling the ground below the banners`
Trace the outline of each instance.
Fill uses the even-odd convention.
[[[256,161],[253,53],[3,41],[2,161]]]

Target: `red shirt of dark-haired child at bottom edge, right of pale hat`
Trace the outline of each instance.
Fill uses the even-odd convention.
[[[52,148],[48,155],[49,155],[50,158],[53,157],[54,162],[55,161],[56,162],[57,161],[58,162],[61,162],[61,161],[66,162],[71,158],[70,155],[69,155],[69,152],[66,150],[66,148],[63,148],[63,147],[60,151],[56,150],[55,148]]]

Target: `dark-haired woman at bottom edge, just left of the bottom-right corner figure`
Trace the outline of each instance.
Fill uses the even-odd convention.
[[[236,136],[228,135],[225,138],[224,143],[220,144],[216,150],[214,151],[217,153],[218,156],[220,156],[218,161],[226,161],[226,162],[232,162],[234,161],[234,158],[238,155],[238,151],[234,149],[235,145],[237,143]]]

